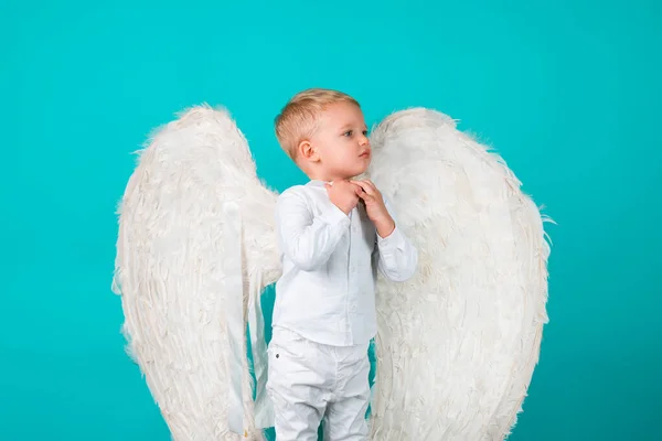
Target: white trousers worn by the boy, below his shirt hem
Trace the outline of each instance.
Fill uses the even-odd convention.
[[[278,441],[367,440],[369,344],[328,346],[275,327],[269,342],[267,391]]]

